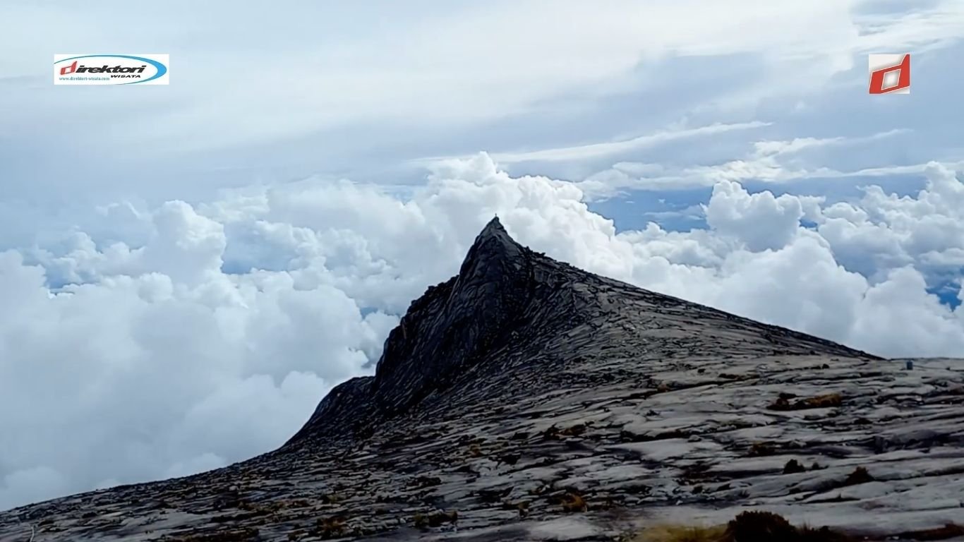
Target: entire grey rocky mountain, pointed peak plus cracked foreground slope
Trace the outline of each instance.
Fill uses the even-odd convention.
[[[2,512],[0,540],[632,540],[746,510],[964,539],[962,506],[964,363],[605,279],[496,219],[280,449]]]

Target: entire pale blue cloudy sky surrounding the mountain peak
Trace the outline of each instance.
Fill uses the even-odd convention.
[[[280,446],[495,213],[609,277],[964,357],[957,0],[0,20],[0,509]],[[171,84],[50,83],[91,52],[169,53]],[[871,52],[913,53],[911,95],[867,94]]]

